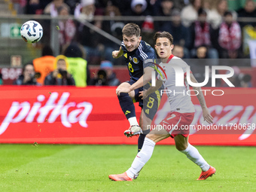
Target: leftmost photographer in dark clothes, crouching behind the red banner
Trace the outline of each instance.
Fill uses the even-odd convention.
[[[35,69],[32,62],[26,63],[23,66],[23,74],[14,81],[15,85],[41,85],[36,82]]]

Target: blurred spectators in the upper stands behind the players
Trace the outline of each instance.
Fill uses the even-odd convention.
[[[228,7],[227,0],[29,0],[23,14],[74,15],[119,39],[123,26],[133,22],[141,27],[142,39],[151,45],[154,45],[154,32],[170,32],[174,44],[183,47],[184,58],[197,58],[197,49],[206,47],[206,58],[233,59],[249,57],[248,44],[242,45],[242,42],[244,38],[255,38],[256,35],[256,22],[237,21],[240,17],[256,17],[255,2],[241,2],[244,2],[242,7],[234,11]],[[95,16],[110,16],[113,20],[93,20]],[[116,16],[145,16],[146,19],[122,22],[115,21]],[[172,20],[154,21],[153,17],[157,16],[171,17]],[[99,64],[102,57],[111,60],[111,51],[117,47],[74,20],[59,22],[59,32],[61,45],[78,41],[92,64]],[[45,30],[44,35],[47,35]]]

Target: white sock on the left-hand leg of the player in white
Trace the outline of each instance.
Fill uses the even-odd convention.
[[[136,175],[142,169],[145,163],[148,162],[153,154],[154,145],[156,145],[155,142],[153,142],[151,139],[145,138],[142,150],[139,151],[133,160],[133,164],[130,169],[126,171],[128,177],[134,178],[134,175]]]

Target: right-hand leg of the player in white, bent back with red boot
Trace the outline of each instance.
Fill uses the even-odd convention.
[[[188,159],[196,163],[197,166],[200,166],[200,168],[202,169],[202,173],[198,180],[206,179],[215,173],[215,168],[210,166],[206,162],[206,160],[203,159],[197,148],[195,148],[193,145],[190,145],[190,143],[188,142],[188,136],[185,137],[182,135],[177,135],[174,137],[174,140],[175,147],[178,149],[178,151],[181,151],[181,153],[187,155]]]

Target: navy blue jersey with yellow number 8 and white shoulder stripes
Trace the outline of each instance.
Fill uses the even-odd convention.
[[[125,57],[126,66],[129,69],[130,77],[135,81],[138,81],[143,75],[143,60],[157,58],[154,49],[145,41],[141,41],[139,47],[132,52],[126,50],[123,42],[121,48],[123,50],[123,56]]]

